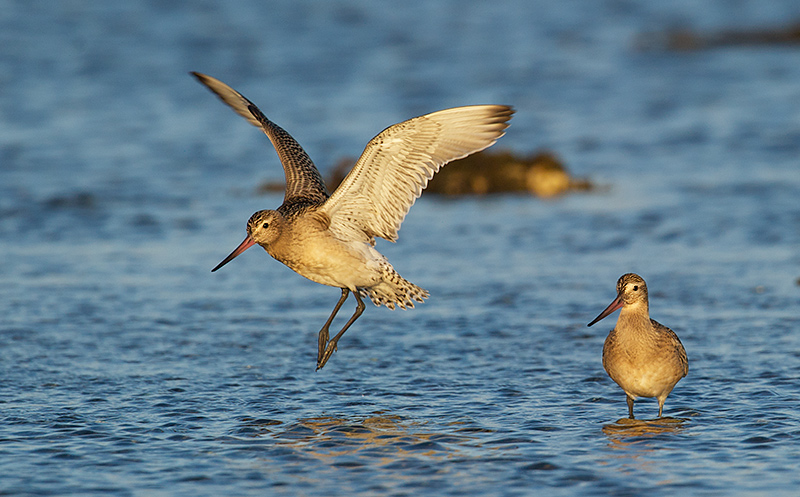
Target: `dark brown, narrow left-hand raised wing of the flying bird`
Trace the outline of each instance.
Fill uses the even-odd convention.
[[[322,203],[328,198],[328,190],[311,158],[297,141],[283,128],[267,119],[253,102],[222,81],[193,72],[201,83],[214,92],[220,100],[228,104],[237,114],[253,126],[258,126],[269,137],[286,175],[284,205],[294,202]]]

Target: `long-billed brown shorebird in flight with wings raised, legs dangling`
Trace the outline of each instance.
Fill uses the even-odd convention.
[[[221,268],[255,244],[311,281],[342,289],[319,332],[317,370],[325,366],[345,331],[364,312],[362,297],[394,309],[414,307],[428,292],[405,280],[380,252],[375,237],[397,239],[414,201],[439,168],[479,152],[503,136],[514,110],[504,105],[456,107],[390,126],[367,143],[341,185],[328,194],[317,168],[289,133],[222,81],[192,73],[223,102],[269,137],[286,175],[277,210],[258,211],[247,237],[217,265]],[[356,310],[339,333],[329,327],[350,292]]]

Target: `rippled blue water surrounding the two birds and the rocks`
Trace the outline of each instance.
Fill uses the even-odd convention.
[[[800,50],[637,48],[796,2],[1,6],[3,495],[797,494]],[[323,170],[507,103],[497,148],[603,188],[423,196],[378,248],[431,298],[315,372],[337,289],[260,249],[210,273],[282,171],[191,70]],[[689,356],[662,421],[620,419],[586,327],[630,271]]]

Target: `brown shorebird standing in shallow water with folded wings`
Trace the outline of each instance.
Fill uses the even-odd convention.
[[[603,367],[625,391],[631,419],[636,397],[657,398],[660,418],[667,395],[689,372],[686,350],[674,331],[650,319],[647,285],[638,274],[619,278],[617,298],[589,326],[619,308],[617,325],[603,344]]]

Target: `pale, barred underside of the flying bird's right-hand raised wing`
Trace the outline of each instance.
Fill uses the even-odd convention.
[[[370,140],[353,169],[320,208],[345,239],[390,241],[443,165],[492,145],[514,110],[474,105],[415,117]]]

